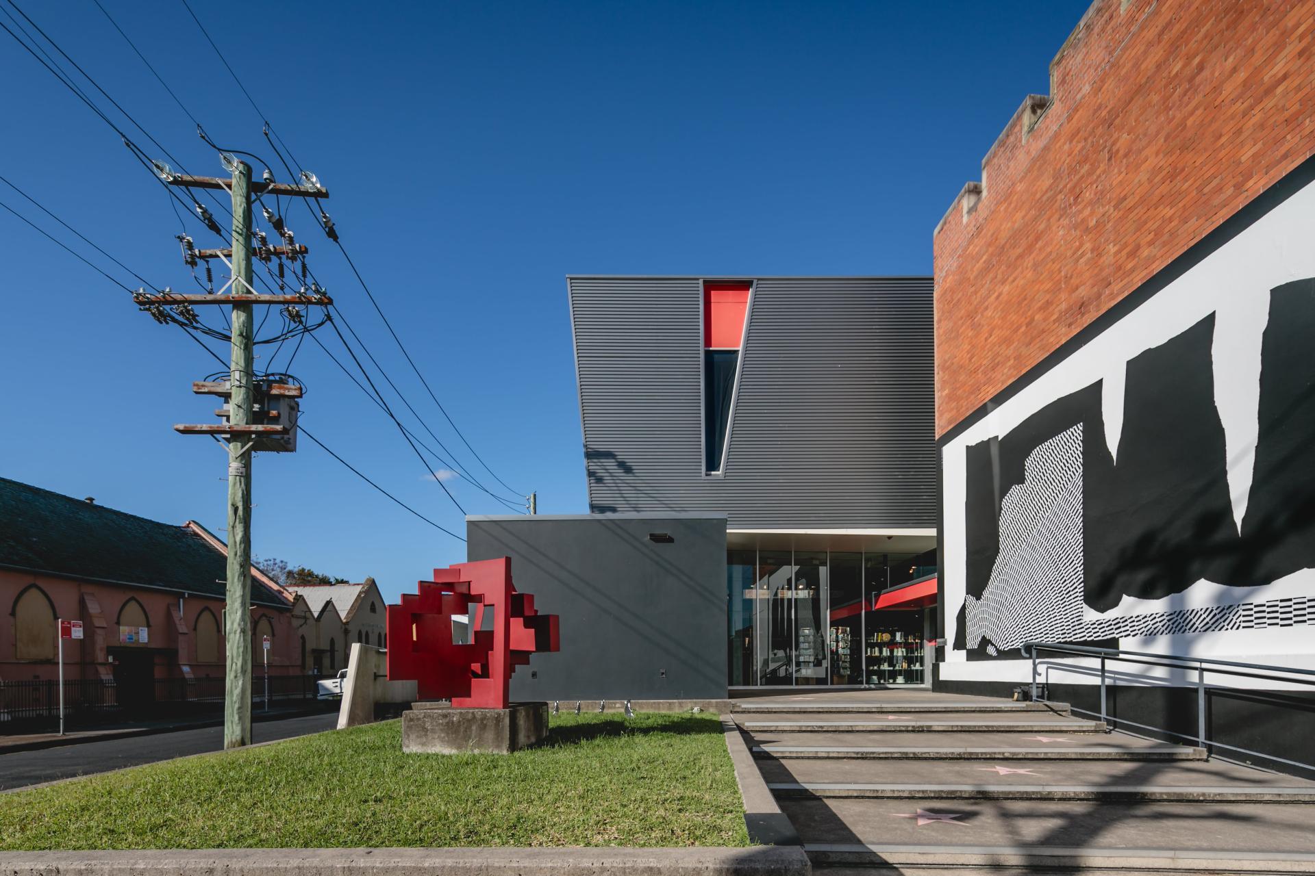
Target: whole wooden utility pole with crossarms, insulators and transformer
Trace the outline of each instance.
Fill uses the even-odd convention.
[[[184,435],[214,435],[227,439],[229,450],[229,549],[227,587],[225,591],[224,637],[225,637],[225,687],[224,687],[224,747],[235,749],[251,742],[251,458],[255,449],[287,452],[289,447],[271,445],[268,441],[280,435],[295,435],[296,407],[285,408],[291,422],[256,422],[256,403],[262,416],[272,416],[270,399],[274,397],[300,398],[300,386],[270,383],[264,378],[258,398],[258,378],[254,368],[255,320],[254,305],[314,305],[327,307],[333,299],[322,289],[302,288],[296,294],[259,294],[252,281],[251,265],[251,198],[266,193],[288,197],[326,198],[329,193],[318,185],[313,176],[305,176],[310,185],[288,185],[283,183],[251,180],[251,165],[225,155],[226,167],[231,167],[231,180],[201,176],[179,176],[160,172],[168,185],[203,189],[226,189],[233,196],[233,247],[230,250],[203,250],[195,256],[218,259],[231,268],[231,280],[218,294],[179,294],[164,292],[147,293],[145,289],[133,296],[142,310],[150,311],[158,322],[164,322],[164,309],[171,307],[183,315],[191,313],[193,305],[229,305],[231,315],[231,347],[229,352],[229,380],[226,385],[199,381],[193,391],[210,395],[227,395],[227,418],[221,424],[175,426]],[[158,165],[159,169],[160,165]],[[167,171],[167,168],[166,168]],[[268,252],[275,256],[304,257],[306,247],[292,242],[285,234],[284,247],[274,247]],[[231,259],[231,261],[230,261]],[[195,261],[193,261],[195,264]],[[226,293],[226,294],[225,294]],[[188,318],[184,317],[184,320]],[[195,314],[191,318],[195,320]]]

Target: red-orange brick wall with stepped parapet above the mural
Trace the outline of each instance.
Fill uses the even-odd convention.
[[[1051,89],[935,232],[938,435],[1315,154],[1315,3],[1095,0]]]

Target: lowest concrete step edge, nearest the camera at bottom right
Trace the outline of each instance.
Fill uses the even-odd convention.
[[[1102,848],[1030,846],[890,846],[878,843],[805,844],[814,872],[869,876],[874,871],[919,876],[1168,876],[1170,873],[1315,873],[1307,852],[1237,852],[1212,850]]]

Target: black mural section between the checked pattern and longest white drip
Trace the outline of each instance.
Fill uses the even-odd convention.
[[[1116,464],[1101,433],[1086,443],[1084,587],[1095,611],[1182,592],[1237,549],[1214,331],[1211,314],[1128,361]]]

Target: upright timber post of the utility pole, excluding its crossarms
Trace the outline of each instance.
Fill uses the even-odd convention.
[[[251,165],[233,168],[233,289],[251,286]],[[233,305],[229,359],[229,426],[254,426],[255,328],[249,303]],[[251,444],[229,436],[229,578],[225,591],[224,747],[251,743]]]

